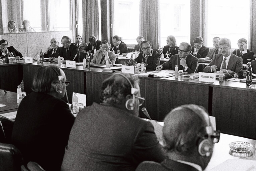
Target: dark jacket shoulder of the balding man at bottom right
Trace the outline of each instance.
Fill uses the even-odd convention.
[[[144,161],[137,167],[136,171],[198,171],[198,170],[190,165],[166,158],[161,163],[157,163],[153,161]]]

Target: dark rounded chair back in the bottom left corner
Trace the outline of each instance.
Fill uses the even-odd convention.
[[[0,170],[20,171],[23,157],[17,147],[0,143]]]

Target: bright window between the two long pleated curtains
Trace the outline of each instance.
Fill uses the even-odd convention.
[[[139,0],[113,0],[114,35],[126,44],[137,44],[139,36]]]

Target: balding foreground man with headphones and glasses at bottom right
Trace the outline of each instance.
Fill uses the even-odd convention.
[[[211,159],[214,143],[219,140],[220,132],[214,131],[203,108],[177,107],[164,119],[166,159],[161,163],[144,161],[136,171],[202,171]]]

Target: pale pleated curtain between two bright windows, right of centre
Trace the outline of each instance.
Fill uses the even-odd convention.
[[[139,34],[149,40],[153,49],[159,49],[159,0],[140,0]]]

